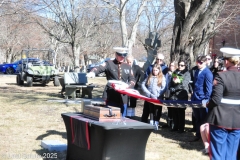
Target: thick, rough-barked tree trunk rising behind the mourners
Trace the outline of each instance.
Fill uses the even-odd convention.
[[[182,58],[189,60],[189,66],[195,65],[197,56],[205,54],[205,48],[215,34],[215,21],[224,3],[225,0],[174,0],[176,14],[171,61]]]

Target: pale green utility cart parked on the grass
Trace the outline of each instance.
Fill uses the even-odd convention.
[[[46,56],[41,55],[44,54],[44,52],[47,52]],[[45,57],[46,59],[41,60],[39,58],[24,58],[33,56],[34,53],[37,53],[37,57]],[[22,61],[17,67],[17,84],[23,85],[24,81],[26,81],[28,87],[31,87],[33,82],[39,82],[45,86],[50,81],[53,81],[54,86],[59,86],[60,83],[58,79],[58,70],[55,69],[54,64],[49,63],[49,61],[51,62],[52,60],[48,60],[49,58],[51,59],[54,57],[53,54],[53,51],[46,49],[22,50]]]

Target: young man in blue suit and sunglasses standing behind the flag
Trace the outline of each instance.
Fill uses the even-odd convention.
[[[206,61],[206,56],[199,56],[197,58],[198,70],[194,75],[194,88],[191,97],[192,101],[209,100],[211,96],[213,87],[213,75],[212,72],[208,69]],[[198,141],[201,138],[200,126],[205,123],[207,109],[193,108],[193,113],[196,118],[196,135],[195,138],[191,141]]]

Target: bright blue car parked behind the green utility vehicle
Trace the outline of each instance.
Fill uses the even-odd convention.
[[[26,59],[23,59],[26,60]],[[29,58],[29,61],[39,61],[37,58]],[[18,65],[22,64],[22,60],[15,61],[13,63],[0,64],[0,73],[15,74],[17,73]]]

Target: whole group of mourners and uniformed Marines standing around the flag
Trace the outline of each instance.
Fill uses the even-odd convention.
[[[240,113],[240,103],[236,99],[240,98],[240,91],[237,90],[240,89],[238,82],[240,72],[237,66],[240,51],[233,51],[234,54],[238,54],[238,58],[232,58],[231,56],[234,57],[234,54],[228,54],[229,52],[232,50],[223,52],[225,57],[216,57],[214,60],[210,55],[198,56],[196,66],[191,69],[184,59],[180,59],[177,63],[171,62],[167,66],[164,63],[164,55],[158,53],[154,64],[150,65],[143,75],[139,67],[131,65],[132,56],[127,57],[127,64],[124,62],[127,52],[118,51],[114,60],[109,60],[95,68],[87,76],[91,77],[105,72],[107,80],[124,81],[128,83],[129,88],[137,89],[141,84],[145,96],[152,99],[165,99],[173,102],[188,101],[189,99],[201,101],[203,107],[192,109],[193,128],[191,131],[196,134],[190,142],[202,139],[203,153],[211,153],[211,159],[229,159],[229,157],[236,159],[240,139],[240,123],[225,116],[234,115],[235,119],[239,119],[237,117]],[[223,70],[226,72],[221,72]],[[107,100],[107,104],[120,107],[123,117],[126,116],[128,107],[136,107],[136,99],[130,98],[129,103],[126,95],[117,93],[109,85],[106,85],[104,92],[105,96],[103,97]],[[179,107],[168,108],[167,127],[170,128],[170,131],[180,134],[185,132],[185,110],[186,108]],[[144,102],[142,122],[150,123],[155,130],[158,130],[161,115],[162,106]],[[148,120],[149,116],[150,121]],[[230,153],[233,155],[230,156]]]

